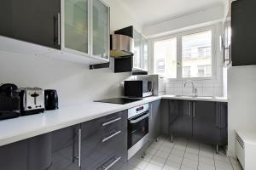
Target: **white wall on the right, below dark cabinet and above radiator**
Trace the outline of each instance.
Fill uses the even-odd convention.
[[[229,154],[235,156],[234,129],[256,128],[256,66],[231,67],[228,70]]]

